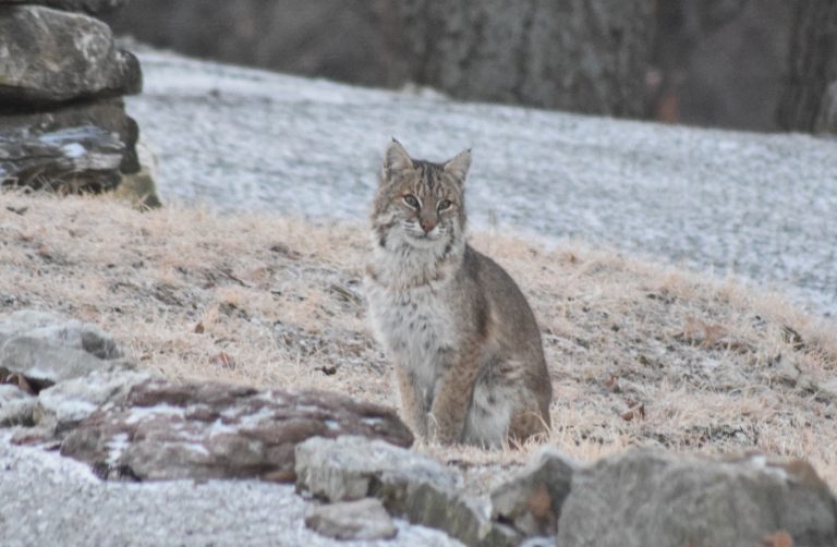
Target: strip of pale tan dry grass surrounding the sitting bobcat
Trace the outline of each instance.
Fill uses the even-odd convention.
[[[0,313],[99,324],[148,369],[396,405],[365,326],[365,230],[107,199],[0,194]],[[597,251],[497,233],[473,244],[518,279],[544,332],[549,442],[592,460],[629,446],[809,459],[837,486],[837,329],[780,296]],[[533,450],[420,447],[446,461]]]

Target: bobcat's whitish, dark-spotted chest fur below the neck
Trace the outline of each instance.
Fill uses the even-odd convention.
[[[400,365],[425,386],[432,386],[440,351],[453,347],[454,326],[444,291],[418,288],[369,293],[372,319],[380,341]]]

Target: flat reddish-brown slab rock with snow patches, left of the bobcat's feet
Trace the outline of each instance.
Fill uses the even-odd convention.
[[[413,442],[393,411],[337,393],[154,379],[93,412],[64,438],[61,453],[104,478],[293,481],[294,447],[339,435]]]

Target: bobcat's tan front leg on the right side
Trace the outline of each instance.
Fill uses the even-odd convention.
[[[465,428],[478,366],[476,358],[451,358],[446,365],[436,381],[427,428],[430,440],[452,445],[460,440]]]

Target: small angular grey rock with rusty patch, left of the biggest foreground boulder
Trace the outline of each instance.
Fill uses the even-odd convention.
[[[551,447],[492,490],[492,519],[523,536],[555,535],[577,464]]]

